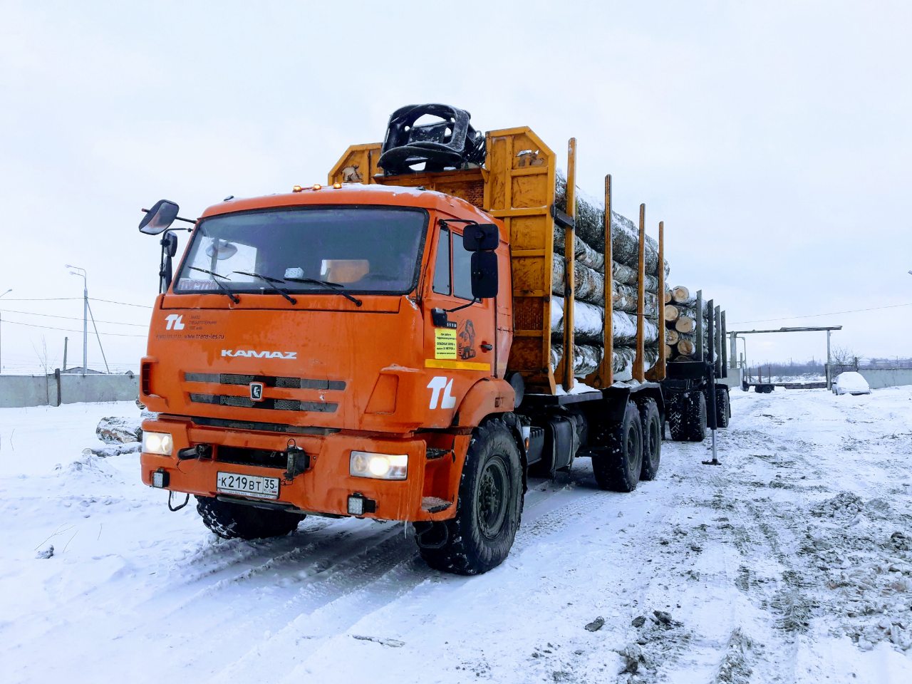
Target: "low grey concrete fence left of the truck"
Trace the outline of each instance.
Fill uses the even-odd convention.
[[[0,408],[60,406],[79,401],[126,401],[140,393],[139,378],[131,373],[61,373],[0,375]]]

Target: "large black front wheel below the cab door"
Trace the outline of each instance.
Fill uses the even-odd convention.
[[[486,573],[510,553],[522,510],[519,448],[503,420],[490,420],[472,433],[456,517],[432,523],[416,537],[419,553],[435,570],[457,575]],[[440,541],[423,544],[429,537]]]

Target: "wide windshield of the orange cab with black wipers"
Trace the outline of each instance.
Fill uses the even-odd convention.
[[[193,233],[174,292],[218,292],[216,278],[231,292],[275,292],[264,276],[292,292],[406,294],[427,222],[420,209],[370,206],[213,216]]]

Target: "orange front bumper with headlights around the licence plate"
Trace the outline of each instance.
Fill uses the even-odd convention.
[[[174,440],[171,456],[143,452],[140,457],[142,482],[151,485],[152,473],[169,475],[167,489],[199,496],[215,496],[216,473],[233,472],[279,478],[279,495],[274,503],[285,503],[305,513],[348,514],[348,497],[361,494],[377,503],[377,510],[363,517],[383,520],[446,520],[456,514],[456,495],[468,436],[429,434],[418,437],[356,435],[343,431],[326,435],[277,434],[249,430],[228,430],[194,425],[190,420],[160,418],[146,420],[142,429],[168,432]],[[284,477],[285,468],[242,465],[219,461],[219,447],[237,447],[284,452],[289,440],[309,455],[310,467],[292,480]],[[178,451],[198,444],[212,445],[212,458],[179,461]],[[428,458],[429,446],[437,458]],[[440,457],[441,447],[448,452]],[[352,477],[348,472],[351,451],[406,453],[409,455],[406,480],[386,481]],[[240,498],[240,497],[235,497]],[[263,502],[262,499],[252,501]],[[451,505],[443,510],[443,502]]]

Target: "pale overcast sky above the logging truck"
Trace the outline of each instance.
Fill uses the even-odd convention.
[[[418,102],[554,150],[575,136],[584,190],[610,172],[620,212],[646,202],[670,285],[730,329],[842,325],[834,346],[910,356],[910,6],[0,0],[3,372],[44,346],[61,366],[64,336],[81,363],[64,264],[90,297],[140,305],[91,302],[111,367],[137,368],[158,268],[141,207],[196,217],[325,182]],[[754,336],[748,355],[820,358],[824,335]],[[104,366],[95,342],[88,360]]]

